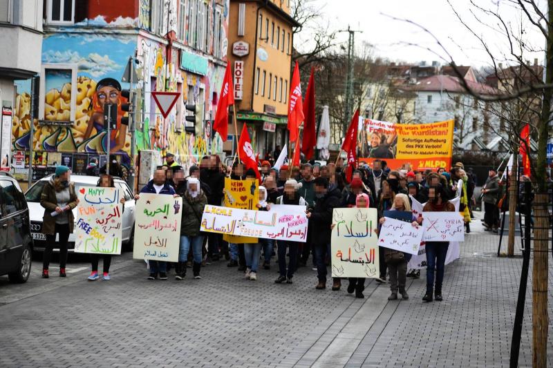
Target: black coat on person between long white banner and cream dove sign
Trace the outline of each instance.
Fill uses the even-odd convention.
[[[317,229],[312,233],[312,244],[315,246],[326,246],[330,243],[330,225],[332,225],[332,212],[340,207],[341,193],[338,188],[331,187],[324,197],[318,198],[315,202],[310,217],[312,229]]]

